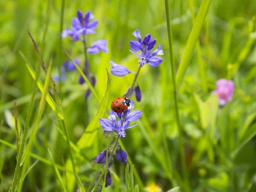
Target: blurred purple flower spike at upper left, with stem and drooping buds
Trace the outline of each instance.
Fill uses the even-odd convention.
[[[94,29],[98,25],[97,20],[93,20],[94,15],[91,11],[87,11],[85,14],[83,14],[80,10],[77,10],[77,17],[74,17],[72,19],[72,25],[71,30],[67,27],[64,31],[61,33],[61,37],[71,37],[73,41],[83,41],[84,49],[85,49],[85,65],[83,67],[83,73],[88,78],[92,86],[94,87],[96,84],[96,78],[92,72],[89,70],[89,60],[87,53],[89,54],[97,54],[100,51],[104,53],[108,53],[107,48],[107,40],[100,39],[92,43],[90,47],[86,45],[85,36],[87,34],[94,34],[96,33]],[[78,82],[80,84],[83,84],[85,81],[80,75],[78,78]],[[85,99],[88,99],[90,95],[89,88],[87,89],[85,93]]]

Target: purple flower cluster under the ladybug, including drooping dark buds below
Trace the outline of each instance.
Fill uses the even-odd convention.
[[[134,108],[134,100],[131,101],[128,109],[122,113],[116,113],[113,110],[111,110],[110,115],[108,116],[108,119],[99,119],[100,126],[105,131],[116,132],[117,139],[121,137],[125,137],[126,136],[125,130],[137,125],[137,123],[134,123],[131,126],[129,126],[130,122],[137,121],[142,115],[142,111],[140,110],[134,110],[131,112],[133,108]],[[115,149],[116,146],[117,146],[117,149]],[[112,183],[109,168],[114,163],[114,158],[110,156],[111,152],[112,154],[115,154],[118,161],[122,163],[127,163],[127,153],[121,149],[120,145],[117,144],[117,141],[114,146],[114,149],[109,148],[108,153],[105,150],[100,152],[97,155],[96,162],[99,164],[104,164],[106,163],[107,154],[108,154],[108,166],[107,166],[105,187],[111,185]]]

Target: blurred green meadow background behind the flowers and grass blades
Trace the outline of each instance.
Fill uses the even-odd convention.
[[[71,38],[60,40],[61,3],[60,0],[0,1],[0,191],[9,190],[16,166],[16,150],[13,148],[16,146],[16,132],[11,114],[14,101],[17,103],[18,127],[23,129],[31,99],[33,79],[19,51],[34,69],[40,63],[27,30],[37,42],[46,65],[53,55],[53,75],[58,73],[61,63],[68,60],[60,47],[61,43],[72,58],[78,58],[80,62],[84,59],[82,42],[72,42]],[[176,69],[192,28],[189,3],[192,3],[193,14],[196,15],[201,0],[170,1]],[[139,29],[142,36],[151,33],[157,39],[157,44],[162,45],[165,53],[162,64],[156,68],[145,65],[137,80],[142,90],[142,101],[135,103],[135,109],[142,110],[143,116],[138,125],[128,130],[127,136],[121,140],[138,172],[134,183],[139,184],[141,180],[145,187],[140,184],[140,191],[167,191],[175,186],[185,191],[174,113],[164,1],[65,1],[63,28],[71,26],[71,19],[76,16],[77,9],[82,12],[92,11],[99,21],[96,34],[86,37],[88,44],[98,39],[108,40],[108,54],[89,56],[90,70],[97,78],[95,89],[100,98],[105,91],[105,68],[110,70],[110,60],[137,71],[138,58],[129,52],[129,41],[135,40],[133,31]],[[199,37],[201,58],[198,59],[194,53],[179,88],[190,191],[256,190],[255,10],[256,2],[253,0],[211,2]],[[204,82],[200,75],[200,59],[206,73]],[[88,86],[78,84],[78,76],[77,71],[70,72],[66,74],[65,82],[57,83],[65,122],[74,144],[98,109],[92,95],[87,101],[84,100]],[[39,78],[42,82],[45,79],[42,70]],[[232,79],[235,83],[233,100],[224,107],[219,107],[216,98],[211,95],[219,78]],[[111,75],[107,110],[110,110],[111,100],[123,95],[133,79],[133,74],[124,77]],[[206,84],[206,90],[203,90],[203,84]],[[48,91],[53,93],[50,87]],[[40,97],[41,92],[37,89],[28,138],[36,122]],[[68,146],[54,121],[61,127],[57,116],[46,103],[31,150],[38,156],[31,156],[22,166],[22,171],[29,170],[22,191],[62,191],[47,148],[55,163],[68,170],[63,172],[60,169],[68,190],[77,190]],[[99,124],[95,128],[98,127]],[[114,134],[109,137],[114,138]],[[75,154],[78,175],[86,189],[93,184],[102,168],[92,158],[105,147],[106,139],[100,128],[92,146],[80,151],[82,158]],[[37,159],[39,161],[30,170],[29,167]],[[115,162],[111,167],[113,184],[105,191],[126,191],[124,170],[124,164]]]

